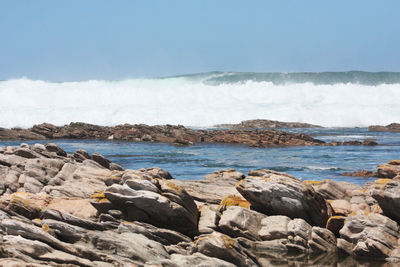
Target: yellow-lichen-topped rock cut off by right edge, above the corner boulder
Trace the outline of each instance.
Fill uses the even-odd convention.
[[[400,180],[376,180],[371,194],[385,216],[400,223]]]

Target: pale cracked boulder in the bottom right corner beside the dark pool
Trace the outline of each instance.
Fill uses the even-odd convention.
[[[389,258],[398,246],[399,225],[380,214],[357,212],[340,230],[338,248],[361,257]]]

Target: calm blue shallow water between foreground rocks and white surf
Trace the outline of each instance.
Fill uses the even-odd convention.
[[[171,144],[99,140],[52,140],[67,152],[78,149],[99,152],[124,168],[158,166],[177,179],[202,179],[215,170],[234,168],[246,173],[267,168],[287,172],[301,179],[333,179],[364,184],[375,178],[346,177],[343,172],[375,170],[378,164],[400,158],[400,133],[368,132],[352,129],[287,129],[305,132],[324,141],[376,139],[379,146],[308,146],[249,148],[243,145],[196,144],[175,147]],[[46,143],[49,140],[26,143]],[[21,141],[2,141],[0,145],[19,145]]]

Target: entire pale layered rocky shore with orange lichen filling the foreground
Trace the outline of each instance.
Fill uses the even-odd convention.
[[[400,163],[386,165],[364,186],[265,169],[182,181],[52,143],[0,147],[0,265],[396,266]]]

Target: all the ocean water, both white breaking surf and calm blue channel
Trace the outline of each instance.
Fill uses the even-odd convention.
[[[219,169],[246,173],[267,168],[300,179],[364,184],[374,178],[342,176],[375,170],[400,158],[400,133],[366,126],[400,122],[400,73],[213,72],[154,79],[48,82],[0,81],[0,127],[74,121],[98,125],[181,124],[210,128],[247,119],[304,122],[327,128],[283,129],[327,142],[375,139],[378,146],[249,148],[243,145],[42,140],[67,152],[99,152],[125,168],[158,166],[178,179],[203,179]],[[20,141],[0,141],[1,146]]]

